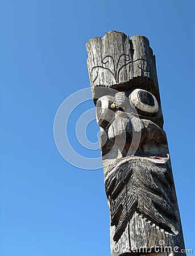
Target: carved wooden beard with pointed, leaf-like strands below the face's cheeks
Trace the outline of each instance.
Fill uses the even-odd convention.
[[[149,158],[135,157],[111,171],[106,179],[106,195],[110,203],[114,241],[121,238],[136,212],[170,234],[175,229],[177,209],[169,161],[155,163]]]

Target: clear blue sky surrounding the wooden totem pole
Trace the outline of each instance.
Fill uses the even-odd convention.
[[[144,35],[156,55],[186,249],[194,247],[194,1],[1,1],[1,256],[108,256],[103,171],[57,151],[53,122],[70,94],[90,86],[85,43],[106,31]],[[79,98],[78,98],[79,101]],[[72,147],[99,157],[75,137]],[[98,126],[86,134],[97,141]],[[77,159],[75,159],[77,164]]]

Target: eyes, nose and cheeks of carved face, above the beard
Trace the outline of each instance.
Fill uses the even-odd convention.
[[[153,94],[126,90],[100,97],[96,106],[102,158],[107,164],[108,159],[115,163],[130,155],[167,157],[167,139],[160,127],[163,115]]]

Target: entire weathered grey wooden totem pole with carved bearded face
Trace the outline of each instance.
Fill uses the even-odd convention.
[[[110,31],[86,47],[101,130],[111,255],[185,255],[148,39]]]

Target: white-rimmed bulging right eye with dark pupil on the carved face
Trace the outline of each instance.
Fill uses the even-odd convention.
[[[155,96],[147,90],[135,89],[129,96],[138,114],[155,116],[159,111],[159,105]]]

